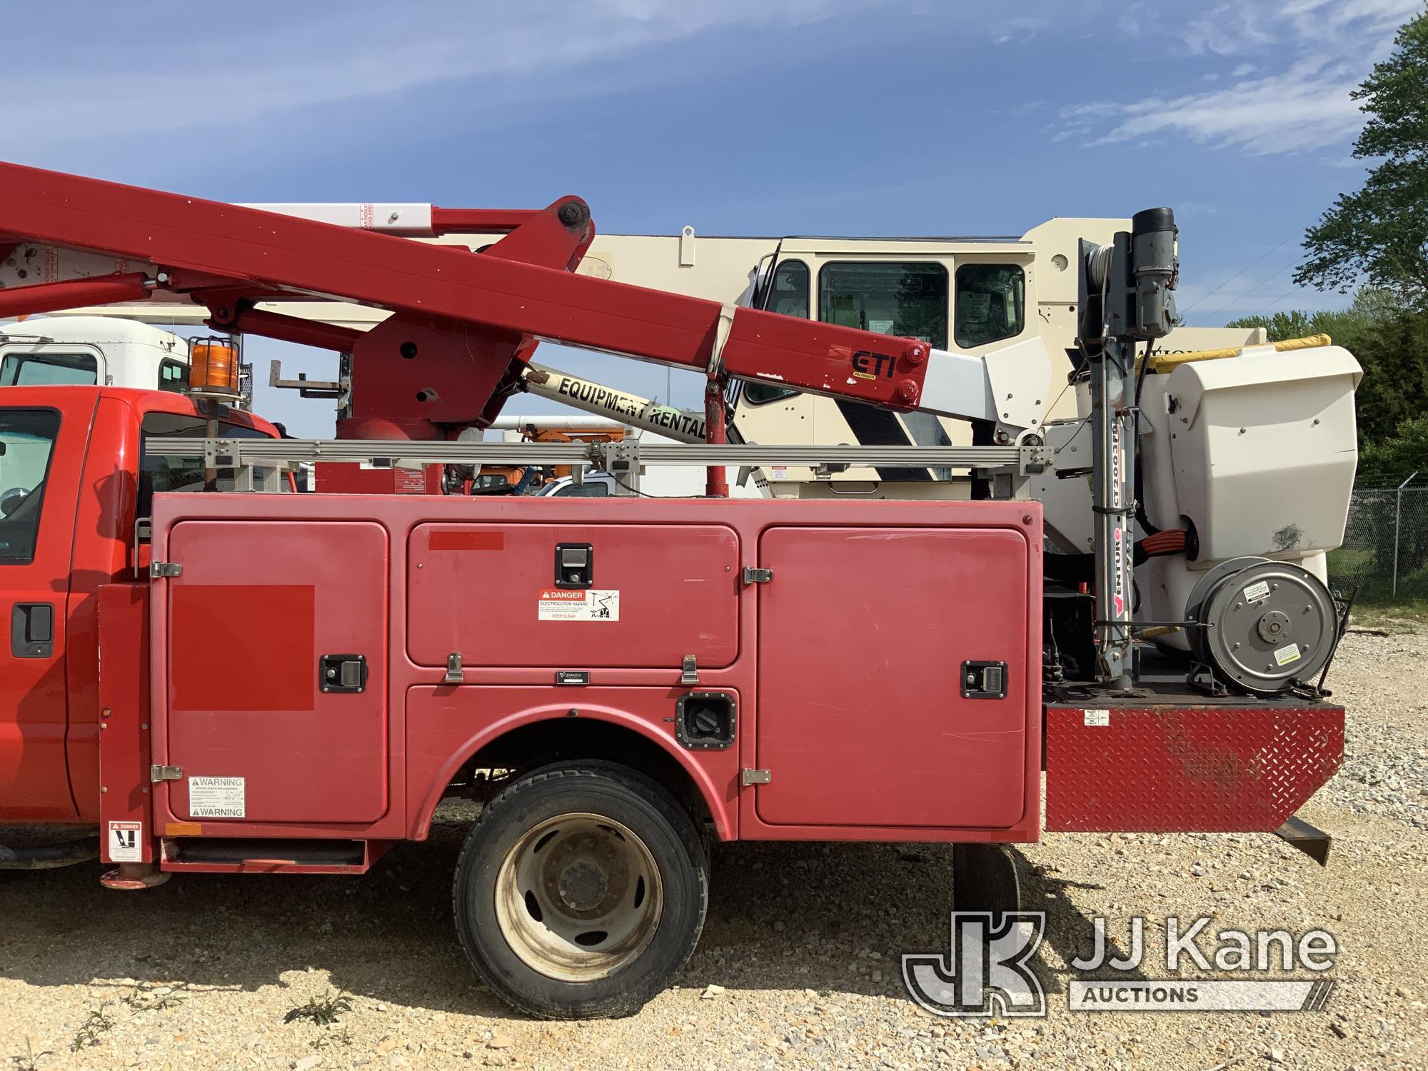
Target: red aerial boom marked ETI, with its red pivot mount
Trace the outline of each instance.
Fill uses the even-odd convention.
[[[0,163],[0,316],[190,300],[210,324],[351,353],[347,438],[441,438],[493,420],[538,340],[765,380],[898,410],[918,407],[928,346],[580,276],[590,210],[433,208],[440,231],[507,231],[474,254],[180,194]],[[136,273],[139,278],[136,278]],[[60,287],[86,280],[91,287]],[[111,290],[107,290],[113,284]],[[391,316],[314,330],[254,301],[336,298]],[[59,301],[59,304],[56,304]]]

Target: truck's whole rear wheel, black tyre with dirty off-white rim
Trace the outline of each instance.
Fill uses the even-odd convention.
[[[544,1018],[628,1015],[690,958],[708,861],[690,815],[627,767],[551,765],[493,798],[456,868],[461,945]]]

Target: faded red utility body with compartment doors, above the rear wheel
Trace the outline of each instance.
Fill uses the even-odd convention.
[[[420,838],[484,745],[585,718],[678,763],[723,838],[1034,840],[1040,507],[867,503],[855,524],[848,513],[161,496],[154,554],[181,574],[154,584],[153,761],[183,778],[156,785],[156,830]],[[558,603],[560,543],[591,547],[593,590],[618,593],[613,618],[543,620]],[[745,584],[744,567],[773,581]],[[998,624],[948,613],[987,597],[1005,610]],[[361,654],[364,691],[324,694],[324,653]],[[458,685],[446,683],[451,653]],[[681,684],[688,654],[697,684]],[[1005,661],[1007,697],[964,698],[964,658]],[[588,684],[554,687],[561,671]],[[680,744],[675,704],[691,691],[735,698],[733,747]],[[741,787],[754,768],[771,781]],[[194,813],[194,777],[243,778],[244,814]],[[174,843],[169,857],[181,865],[183,853]]]

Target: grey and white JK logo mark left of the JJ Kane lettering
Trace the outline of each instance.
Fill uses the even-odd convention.
[[[1047,997],[1027,962],[1041,947],[1044,911],[952,911],[951,950],[902,957],[908,995],[934,1015],[1045,1015]]]

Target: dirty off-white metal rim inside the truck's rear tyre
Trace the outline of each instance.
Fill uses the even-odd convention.
[[[496,875],[496,921],[511,951],[558,981],[628,967],[660,927],[654,855],[627,825],[561,814],[528,830]]]

